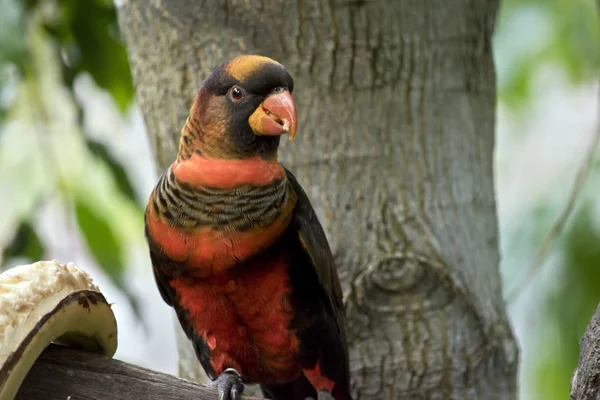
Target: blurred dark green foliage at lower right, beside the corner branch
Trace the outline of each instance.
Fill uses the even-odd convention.
[[[544,302],[547,326],[540,335],[537,392],[569,397],[579,340],[600,302],[600,231],[590,202],[577,210],[561,242],[561,276]]]

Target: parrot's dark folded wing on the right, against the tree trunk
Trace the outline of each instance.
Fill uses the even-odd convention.
[[[323,231],[323,227],[321,226],[317,214],[312,208],[304,189],[302,189],[302,186],[300,186],[296,177],[289,170],[286,169],[285,172],[287,179],[298,198],[295,214],[300,244],[312,261],[312,265],[315,268],[317,277],[319,278],[319,282],[321,283],[321,287],[327,298],[326,305],[328,304],[330,308],[328,311],[330,311],[335,318],[344,349],[346,349],[347,344],[342,287],[333,261],[333,255],[329,248],[329,242],[327,241],[325,231]]]

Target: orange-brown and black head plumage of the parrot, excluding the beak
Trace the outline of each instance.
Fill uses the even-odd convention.
[[[234,88],[239,98],[232,97]],[[276,159],[280,137],[256,135],[249,118],[280,88],[291,92],[292,76],[267,57],[243,55],[216,68],[196,95],[182,132],[180,156],[196,152],[212,158]]]

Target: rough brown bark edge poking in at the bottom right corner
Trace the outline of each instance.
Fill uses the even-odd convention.
[[[579,362],[571,378],[571,400],[600,398],[600,305],[579,342]]]

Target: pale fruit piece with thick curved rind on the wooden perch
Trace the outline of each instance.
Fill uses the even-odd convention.
[[[117,323],[90,276],[56,260],[0,274],[0,400],[15,397],[51,342],[114,355]]]

